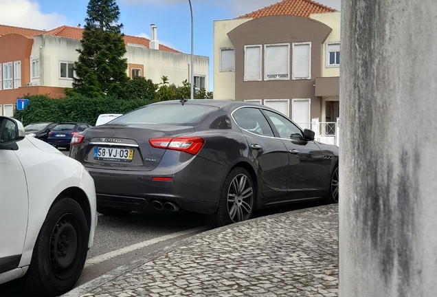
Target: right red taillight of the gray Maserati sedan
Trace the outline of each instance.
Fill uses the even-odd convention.
[[[203,144],[205,144],[205,140],[201,137],[153,138],[148,140],[148,142],[155,148],[183,151],[191,155],[197,155],[203,147]]]

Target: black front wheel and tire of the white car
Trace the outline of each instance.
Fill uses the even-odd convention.
[[[78,281],[87,259],[89,229],[79,204],[61,197],[49,209],[36,239],[25,287],[38,296],[58,296]]]

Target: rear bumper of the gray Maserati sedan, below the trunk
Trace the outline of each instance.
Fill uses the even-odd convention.
[[[201,157],[179,171],[155,168],[150,171],[111,170],[87,167],[96,184],[99,206],[133,211],[154,210],[152,201],[176,203],[182,210],[212,214],[219,206],[229,168]],[[155,181],[153,177],[172,177]]]

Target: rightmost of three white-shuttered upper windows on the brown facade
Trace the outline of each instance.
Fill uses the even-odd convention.
[[[293,43],[293,80],[311,79],[311,43]]]

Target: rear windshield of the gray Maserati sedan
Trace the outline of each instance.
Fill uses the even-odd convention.
[[[197,124],[218,107],[195,104],[151,104],[111,121],[111,124]]]

